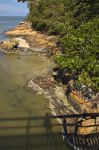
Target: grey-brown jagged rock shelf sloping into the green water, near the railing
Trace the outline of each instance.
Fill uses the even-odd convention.
[[[28,88],[35,94],[43,94],[45,98],[49,99],[49,106],[54,115],[77,113],[67,101],[64,88],[54,80],[51,73],[30,80]],[[68,119],[68,123],[71,122],[73,123],[74,120]]]

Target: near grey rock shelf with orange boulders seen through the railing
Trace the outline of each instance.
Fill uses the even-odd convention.
[[[31,88],[36,94],[43,94],[46,98],[50,99],[50,108],[53,114],[63,115],[63,114],[74,114],[74,113],[84,113],[93,112],[96,110],[91,109],[90,103],[79,104],[80,99],[77,95],[74,96],[74,93],[71,93],[72,101],[66,98],[65,90],[62,84],[58,84],[51,74],[47,74],[45,76],[39,76],[34,80],[30,80],[28,82],[28,88]],[[66,88],[66,87],[65,87]],[[82,102],[82,100],[81,100]],[[77,106],[77,109],[75,109]],[[79,106],[79,109],[78,109]],[[92,111],[91,111],[92,110]],[[77,125],[75,127],[68,127],[68,132],[75,132],[77,129],[77,134],[87,135],[92,132],[96,132],[95,123],[99,123],[99,119],[97,118],[85,118],[80,119],[67,119],[67,123],[73,123]],[[87,127],[89,126],[89,127]],[[99,128],[97,128],[99,130]]]

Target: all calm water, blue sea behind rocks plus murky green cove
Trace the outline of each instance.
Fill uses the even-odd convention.
[[[2,34],[22,21],[24,17],[0,17],[0,40],[6,39]],[[26,116],[46,116],[51,113],[49,100],[42,95],[35,95],[27,88],[27,82],[45,69],[52,67],[47,59],[38,56],[5,55],[0,52],[0,118],[15,118]],[[45,117],[46,118],[46,117]],[[44,118],[44,120],[45,120]],[[46,132],[44,120],[28,121],[2,121],[0,122],[0,135],[20,135]],[[57,121],[54,121],[57,123]],[[42,126],[30,128],[28,125]],[[13,128],[20,126],[21,128]],[[23,128],[26,126],[26,128]],[[8,129],[2,129],[7,127]],[[9,128],[11,127],[11,129]],[[54,127],[53,131],[60,131]]]

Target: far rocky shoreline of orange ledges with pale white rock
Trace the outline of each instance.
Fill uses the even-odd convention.
[[[27,53],[29,54],[42,54],[50,57],[51,55],[60,50],[56,44],[56,36],[48,36],[38,31],[34,31],[31,28],[31,24],[27,22],[17,25],[14,29],[4,32],[4,34],[9,38],[16,37],[16,39],[19,39],[19,43],[21,41],[21,45],[18,46],[17,49],[15,49],[15,53],[21,53],[22,50],[25,48],[27,49]],[[22,40],[25,40],[25,42],[22,42]],[[3,44],[4,43],[0,43],[0,47],[2,47]],[[26,46],[27,44],[28,47]],[[13,52],[13,50],[13,48],[10,48],[8,49],[8,52]]]

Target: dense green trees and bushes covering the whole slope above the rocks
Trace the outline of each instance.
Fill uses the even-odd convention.
[[[28,0],[28,7],[33,28],[59,36],[57,64],[77,84],[98,91],[99,0]]]

